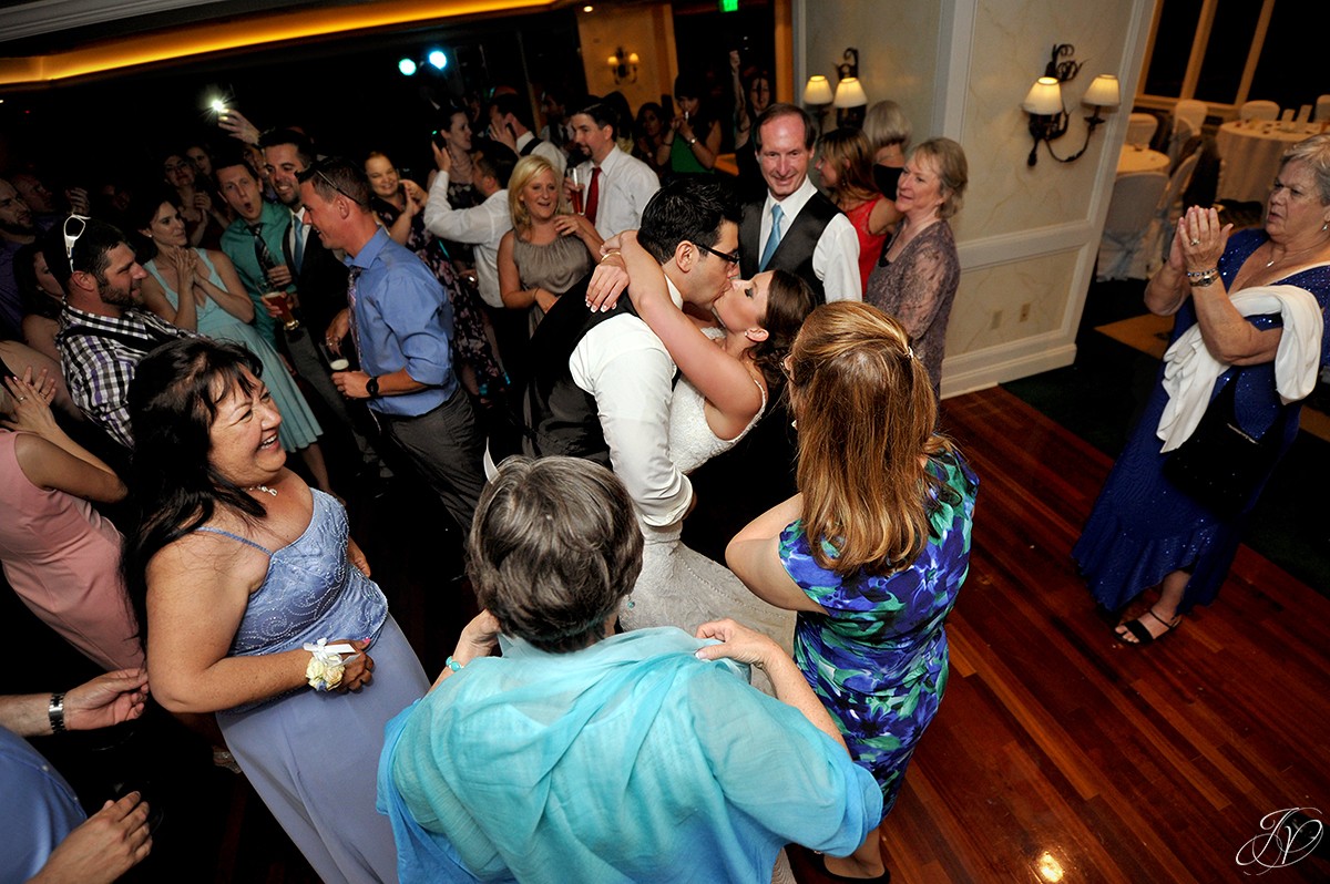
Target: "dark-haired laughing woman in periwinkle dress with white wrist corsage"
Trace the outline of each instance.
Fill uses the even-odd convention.
[[[173,713],[217,713],[322,880],[395,881],[375,762],[384,723],[430,685],[346,510],[285,468],[261,375],[249,351],[196,338],[150,354],[130,386],[142,512],[124,568],[153,695]],[[322,661],[335,690],[315,687],[325,639],[351,646]]]

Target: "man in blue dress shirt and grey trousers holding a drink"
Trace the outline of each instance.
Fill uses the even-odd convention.
[[[360,371],[335,372],[332,383],[368,400],[383,433],[469,530],[484,487],[484,436],[452,370],[452,304],[424,262],[379,226],[358,165],[322,160],[299,181],[305,222],[346,253],[351,271],[347,310],[327,336],[340,346],[351,334]]]

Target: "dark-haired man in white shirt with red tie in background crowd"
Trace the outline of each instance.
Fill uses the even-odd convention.
[[[605,239],[640,227],[642,210],[660,190],[660,179],[652,167],[618,149],[614,120],[614,109],[604,102],[579,110],[571,120],[573,141],[591,156],[577,166],[583,214]]]

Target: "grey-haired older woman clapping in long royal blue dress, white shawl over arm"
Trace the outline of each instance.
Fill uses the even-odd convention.
[[[1297,436],[1297,400],[1311,388],[1305,386],[1297,395],[1289,375],[1279,380],[1277,366],[1294,362],[1279,354],[1306,351],[1307,364],[1298,374],[1313,383],[1317,363],[1321,368],[1330,364],[1330,134],[1313,136],[1285,153],[1264,230],[1230,237],[1230,229],[1213,209],[1190,209],[1178,222],[1168,263],[1145,290],[1145,306],[1158,315],[1176,315],[1170,344],[1200,330],[1198,342],[1190,332],[1193,351],[1214,362],[1216,375],[1200,391],[1200,403],[1214,407],[1225,388],[1232,388],[1236,421],[1250,437],[1270,439],[1278,456],[1265,464],[1237,512],[1220,512],[1197,500],[1194,491],[1178,487],[1164,472],[1172,443],[1162,437],[1176,423],[1165,420],[1177,411],[1176,404],[1169,411],[1165,379],[1177,370],[1161,367],[1145,415],[1072,550],[1091,593],[1111,610],[1160,588],[1153,605],[1119,625],[1119,639],[1129,645],[1168,634],[1192,606],[1208,605],[1218,594],[1248,514]],[[1234,300],[1269,287],[1279,290],[1278,312],[1240,312]],[[1297,291],[1286,287],[1306,295],[1303,307],[1297,306]]]

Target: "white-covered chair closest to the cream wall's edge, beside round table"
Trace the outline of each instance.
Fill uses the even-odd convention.
[[[1146,279],[1158,269],[1158,205],[1168,182],[1162,171],[1130,171],[1113,182],[1096,279]]]

